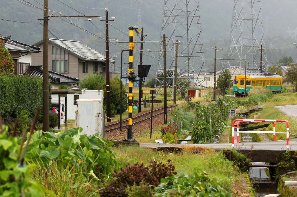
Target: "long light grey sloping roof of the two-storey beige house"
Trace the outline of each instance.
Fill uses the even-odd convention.
[[[104,61],[105,62],[105,55],[88,47],[87,45],[81,43],[80,41],[73,41],[73,40],[62,40],[62,39],[48,39],[53,44],[56,44],[68,51],[74,53],[76,56],[80,57],[83,60],[97,60],[97,61]],[[110,62],[114,62],[113,59],[109,60]]]

